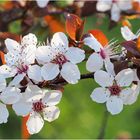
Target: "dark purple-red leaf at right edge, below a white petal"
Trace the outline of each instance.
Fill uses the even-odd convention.
[[[122,46],[126,48],[126,50],[134,55],[135,57],[140,57],[140,52],[137,49],[136,42],[134,41],[125,41],[122,43]]]

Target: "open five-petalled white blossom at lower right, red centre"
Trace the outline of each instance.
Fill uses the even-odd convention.
[[[99,70],[94,79],[101,86],[93,90],[91,98],[97,103],[105,103],[107,110],[118,114],[123,110],[123,104],[129,104],[128,98],[134,90],[128,86],[132,84],[134,72],[130,68],[120,71],[116,76]],[[131,96],[132,97],[132,96]]]

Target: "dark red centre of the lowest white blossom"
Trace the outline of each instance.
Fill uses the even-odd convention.
[[[33,103],[33,110],[35,112],[42,112],[45,105],[42,103],[42,100]]]

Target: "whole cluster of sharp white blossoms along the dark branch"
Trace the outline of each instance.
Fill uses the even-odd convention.
[[[139,37],[139,33],[134,35],[128,27],[122,27],[121,32],[126,40]],[[26,125],[30,134],[38,133],[44,120],[54,121],[60,114],[56,105],[61,100],[61,91],[40,85],[59,78],[76,84],[80,80],[77,64],[86,57],[83,49],[69,46],[69,40],[62,32],[55,33],[47,45],[40,46],[37,42],[32,33],[24,36],[20,43],[6,39],[5,64],[0,66],[0,124],[8,120],[6,105],[12,105],[17,115],[29,115]],[[119,60],[121,55],[114,51],[114,42],[103,46],[89,34],[83,43],[93,50],[86,68],[94,73],[95,81],[101,86],[93,90],[92,100],[106,102],[107,110],[113,115],[120,113],[123,105],[134,103],[139,94],[136,70],[126,68],[115,73],[112,59]]]

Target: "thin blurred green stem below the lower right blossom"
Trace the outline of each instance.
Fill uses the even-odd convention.
[[[102,123],[101,123],[101,127],[100,127],[100,131],[99,131],[99,135],[97,137],[98,139],[103,139],[105,136],[105,130],[107,128],[108,118],[109,118],[109,113],[107,110],[105,110],[103,119],[102,119]]]

